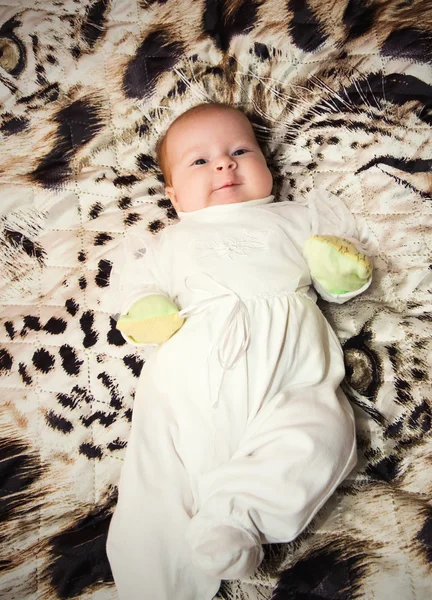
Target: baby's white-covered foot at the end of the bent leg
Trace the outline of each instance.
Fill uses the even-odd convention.
[[[220,579],[241,579],[252,575],[264,553],[259,537],[237,524],[191,522],[188,541],[192,562]]]

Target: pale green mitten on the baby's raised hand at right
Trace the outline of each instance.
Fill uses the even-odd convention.
[[[313,235],[303,254],[312,278],[329,294],[347,294],[362,288],[372,274],[372,262],[353,244],[334,235]]]

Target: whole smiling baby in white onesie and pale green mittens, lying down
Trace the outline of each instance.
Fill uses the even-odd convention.
[[[263,543],[298,536],[356,463],[342,350],[311,285],[345,302],[372,269],[341,200],[273,202],[238,110],[189,110],[158,155],[180,221],[126,246],[117,326],[160,345],[107,551],[121,600],[211,600],[253,574]]]

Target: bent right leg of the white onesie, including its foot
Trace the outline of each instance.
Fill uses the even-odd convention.
[[[277,394],[232,459],[200,482],[193,561],[221,579],[250,575],[259,543],[293,540],[356,462],[352,411],[332,385]],[[254,543],[255,542],[255,543]]]

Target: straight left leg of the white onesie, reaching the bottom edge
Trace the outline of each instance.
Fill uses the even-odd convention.
[[[142,387],[141,387],[142,389]],[[146,382],[146,394],[154,392]],[[164,398],[138,387],[107,554],[120,600],[212,600],[220,578],[191,560],[189,478],[170,435]],[[178,400],[178,398],[177,398]]]

